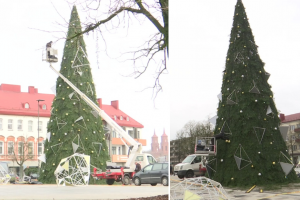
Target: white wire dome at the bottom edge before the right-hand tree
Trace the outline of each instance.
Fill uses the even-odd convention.
[[[170,189],[170,197],[172,200],[229,199],[228,194],[220,183],[204,176],[188,178],[172,186]]]

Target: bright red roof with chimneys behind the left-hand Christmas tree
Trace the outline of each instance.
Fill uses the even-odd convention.
[[[28,87],[28,92],[21,92],[20,85],[1,84],[0,85],[0,114],[2,115],[20,115],[20,116],[37,116],[38,115],[38,99],[43,99],[39,103],[40,117],[51,116],[51,105],[54,94],[38,93],[38,89],[33,86]],[[29,104],[29,108],[25,108],[25,104]],[[102,105],[102,100],[98,99],[100,108],[105,111],[119,126],[144,128],[142,124],[131,118],[129,115],[119,109],[119,101],[112,101],[112,105]],[[46,110],[42,106],[46,105]],[[123,117],[123,120],[121,118]],[[129,121],[127,121],[127,117]]]

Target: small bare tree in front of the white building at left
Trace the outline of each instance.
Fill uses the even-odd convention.
[[[16,162],[17,165],[20,166],[20,179],[23,178],[24,169],[23,165],[27,160],[31,160],[34,158],[34,154],[32,152],[32,148],[30,148],[31,143],[28,142],[25,138],[18,142],[17,147],[13,148],[12,155],[10,159],[13,162]]]

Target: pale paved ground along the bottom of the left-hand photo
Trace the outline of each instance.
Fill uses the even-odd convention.
[[[35,184],[0,185],[0,200],[7,199],[129,199],[166,195],[169,187],[157,186],[123,186],[123,185],[88,185],[88,186],[57,186]]]

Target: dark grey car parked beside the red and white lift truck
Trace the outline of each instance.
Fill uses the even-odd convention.
[[[133,176],[135,185],[151,184],[152,186],[161,183],[164,186],[169,185],[169,169],[168,163],[154,163],[147,165],[141,171]]]

